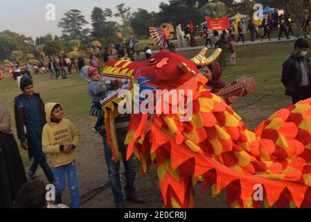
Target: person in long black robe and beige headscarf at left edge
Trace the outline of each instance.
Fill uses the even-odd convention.
[[[13,207],[17,191],[27,181],[10,120],[10,112],[0,104],[0,208]]]

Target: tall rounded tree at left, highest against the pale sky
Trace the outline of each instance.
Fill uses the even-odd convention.
[[[89,22],[85,20],[85,16],[82,15],[80,10],[71,9],[65,12],[64,18],[60,20],[58,27],[63,29],[62,33],[65,37],[69,38],[69,40],[75,40],[88,35],[89,29],[83,29],[86,24],[89,24]]]

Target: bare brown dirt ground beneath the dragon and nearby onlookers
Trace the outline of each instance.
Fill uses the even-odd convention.
[[[285,105],[285,104],[284,104]],[[265,110],[265,111],[264,111]],[[267,110],[267,108],[254,104],[247,108],[238,110],[238,114],[245,121],[246,126],[254,128],[263,121],[267,116],[271,115],[276,110]],[[106,208],[114,207],[114,200],[112,197],[112,191],[110,187],[107,189],[100,189],[100,192],[96,194],[96,191],[92,191],[98,187],[103,187],[108,182],[107,167],[105,164],[105,156],[103,151],[103,142],[101,137],[91,132],[92,126],[96,121],[96,118],[86,117],[84,119],[77,119],[75,117],[70,118],[76,126],[78,126],[81,139],[78,146],[78,181],[80,188],[80,196],[82,196],[82,207],[86,208]],[[48,160],[51,158],[48,157]],[[122,164],[121,164],[122,165]],[[123,172],[123,166],[121,168]],[[42,170],[37,171],[37,175],[44,179]],[[122,186],[125,186],[123,178]],[[159,183],[157,178],[157,172],[153,166],[145,178],[142,178],[140,168],[137,167],[136,173],[136,188],[138,193],[148,200],[144,205],[126,203],[126,207],[130,208],[154,208],[162,207],[161,194],[159,191]],[[211,197],[211,190],[207,190],[204,194],[200,192],[200,183],[195,187],[195,207],[228,207],[226,205],[226,192],[222,191],[216,198]],[[91,197],[93,194],[93,197]],[[90,198],[91,197],[91,198]],[[89,198],[89,200],[87,200]],[[66,188],[63,196],[63,202],[66,205],[70,204],[70,195],[68,188]]]

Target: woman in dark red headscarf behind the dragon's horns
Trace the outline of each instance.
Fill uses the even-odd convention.
[[[212,62],[210,65],[203,67],[202,72],[208,79],[206,89],[211,89],[212,93],[226,87],[226,83],[222,80],[222,67],[217,62]]]

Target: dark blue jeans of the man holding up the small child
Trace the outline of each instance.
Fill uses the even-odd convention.
[[[135,167],[134,167],[134,161],[133,156],[130,158],[130,160],[126,161],[126,151],[127,146],[125,146],[125,132],[118,132],[118,129],[116,130],[116,134],[118,135],[118,147],[119,151],[121,152],[122,159],[123,159],[123,165],[125,169],[125,195],[131,196],[135,192],[134,187],[134,180],[135,180]],[[104,148],[105,148],[105,159],[108,167],[108,175],[109,175],[109,182],[112,187],[112,194],[114,196],[114,203],[123,203],[123,194],[121,189],[121,182],[120,182],[120,161],[114,162],[112,159],[112,150],[110,149],[110,146],[107,144],[107,135],[105,130],[103,130],[103,140],[104,140]]]

